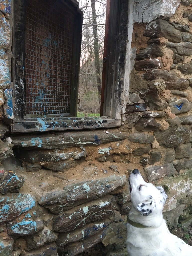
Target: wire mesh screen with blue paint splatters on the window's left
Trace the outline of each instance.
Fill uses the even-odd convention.
[[[61,1],[27,1],[25,115],[70,113],[74,16]]]

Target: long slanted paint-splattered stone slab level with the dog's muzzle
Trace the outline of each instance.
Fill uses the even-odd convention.
[[[54,214],[60,214],[84,202],[109,194],[125,184],[125,175],[111,175],[107,178],[73,183],[65,186],[63,190],[47,193],[40,198],[39,204],[49,208]]]

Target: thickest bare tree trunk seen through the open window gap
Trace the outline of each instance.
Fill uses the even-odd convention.
[[[95,0],[91,0],[92,14],[93,14],[93,36],[94,36],[94,55],[95,55],[95,69],[97,79],[97,90],[99,104],[101,102],[101,78],[100,78],[100,64],[99,64],[99,41],[97,34],[97,19],[95,10]]]

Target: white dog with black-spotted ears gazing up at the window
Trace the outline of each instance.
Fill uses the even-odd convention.
[[[129,176],[132,208],[127,223],[127,250],[130,256],[191,256],[192,246],[171,234],[163,219],[167,195],[135,169]]]

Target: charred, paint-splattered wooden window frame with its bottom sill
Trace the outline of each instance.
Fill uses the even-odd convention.
[[[18,1],[20,4],[18,4]],[[76,2],[74,0],[63,0],[68,2]],[[68,130],[81,130],[81,129],[98,129],[108,127],[121,126],[121,93],[122,89],[119,87],[118,70],[119,70],[119,46],[120,39],[118,33],[120,31],[120,1],[107,0],[107,13],[106,24],[107,30],[105,31],[106,57],[105,65],[103,65],[102,79],[102,99],[101,99],[101,115],[100,117],[93,118],[77,118],[76,113],[67,117],[25,117],[24,116],[24,101],[25,101],[25,83],[24,77],[24,44],[25,41],[25,11],[22,8],[24,0],[17,0],[17,5],[14,4],[14,28],[13,28],[13,77],[14,77],[14,123],[11,125],[12,133],[21,132],[42,132],[42,131],[68,131]],[[15,3],[15,1],[14,1]],[[112,11],[110,11],[110,8]],[[81,15],[81,14],[80,14]],[[118,22],[114,17],[119,17]],[[18,25],[19,24],[19,25]],[[77,24],[77,26],[81,26]],[[15,29],[17,28],[17,29]],[[79,27],[79,29],[81,29]],[[80,30],[82,31],[82,29]],[[108,36],[110,35],[110,36]],[[77,50],[78,52],[78,50]],[[114,52],[114,54],[111,54]],[[20,56],[20,59],[16,58]],[[80,60],[80,54],[76,56],[76,60]],[[79,63],[79,62],[78,62]],[[76,68],[76,84],[78,85],[79,69]],[[78,86],[77,86],[78,88]],[[76,103],[77,104],[77,103]],[[77,110],[77,105],[75,105]]]

